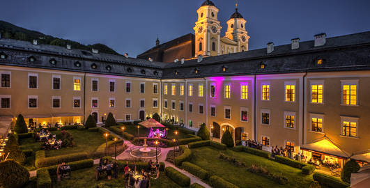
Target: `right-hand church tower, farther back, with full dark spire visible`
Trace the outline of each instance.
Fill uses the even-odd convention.
[[[238,3],[236,3],[235,13],[233,13],[227,23],[227,31],[225,37],[238,42],[237,52],[244,52],[248,50],[249,36],[245,30],[247,21],[238,13]]]

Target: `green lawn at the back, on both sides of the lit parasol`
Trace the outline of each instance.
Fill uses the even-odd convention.
[[[121,124],[121,123],[118,123],[118,124]],[[119,126],[115,126],[115,127],[118,127],[118,128],[121,128],[122,126],[125,127],[125,132],[128,132],[134,136],[137,136],[137,125],[119,125]],[[151,131],[150,129],[146,128],[146,127],[143,127],[141,125],[139,125],[140,128],[139,128],[139,137],[146,137],[148,136],[149,132]],[[154,130],[156,130],[157,128],[155,128]],[[160,128],[160,130],[163,130],[163,128]],[[174,129],[169,129],[169,132],[168,132],[168,138],[169,139],[186,139],[186,138],[189,138],[190,136],[187,135],[187,133],[184,133],[184,132],[181,132],[179,131],[178,132],[178,135],[175,137],[175,134],[174,134],[175,130]]]

